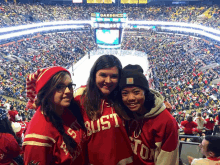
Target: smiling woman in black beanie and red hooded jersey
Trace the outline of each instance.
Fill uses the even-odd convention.
[[[130,117],[126,127],[134,164],[179,164],[178,124],[166,109],[163,96],[149,89],[141,66],[125,66],[119,86],[118,104]]]

